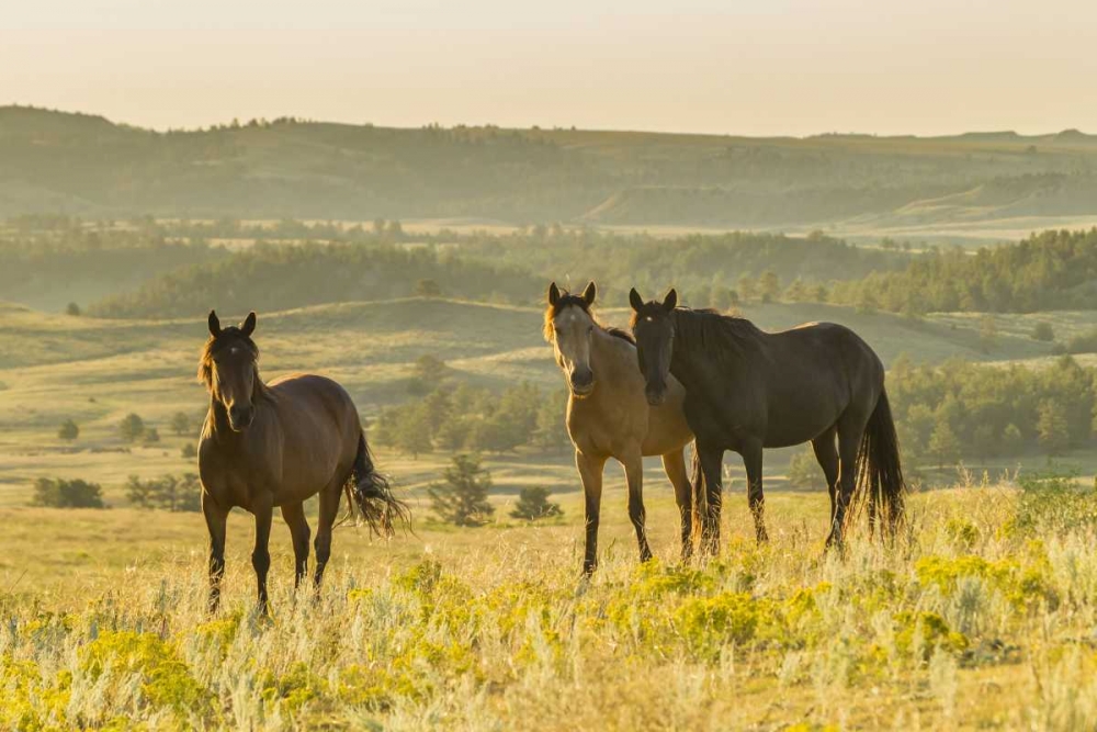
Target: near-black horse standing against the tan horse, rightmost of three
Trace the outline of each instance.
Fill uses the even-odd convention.
[[[762,448],[811,442],[830,492],[827,545],[840,544],[853,502],[867,497],[894,529],[906,486],[880,358],[849,328],[811,323],[765,333],[743,318],[676,307],[678,293],[645,303],[629,293],[647,401],[663,402],[667,379],[686,386],[686,419],[697,438],[695,500],[702,539],[720,541],[724,451],[743,457],[755,532],[766,540]],[[837,438],[837,446],[835,444]],[[704,478],[702,496],[701,476]]]

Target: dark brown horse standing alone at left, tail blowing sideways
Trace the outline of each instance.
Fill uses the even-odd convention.
[[[350,395],[342,386],[310,374],[264,384],[259,349],[251,340],[256,314],[239,326],[220,327],[210,312],[210,339],[199,362],[199,380],[210,392],[210,412],[199,444],[202,511],[210,529],[210,609],[220,599],[225,571],[225,521],[234,507],[256,517],[251,565],[259,581],[259,608],[267,612],[271,519],[274,508],[293,536],[299,586],[308,562],[308,521],[304,502],[319,494],[316,575],[319,586],[331,554],[331,527],[343,492],[353,496],[372,530],[392,536],[395,521],[407,526],[407,507],[397,500],[373,466],[370,448]],[[350,506],[353,511],[353,504]]]

